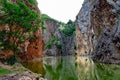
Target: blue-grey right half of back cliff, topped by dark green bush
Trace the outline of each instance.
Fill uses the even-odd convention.
[[[69,24],[70,23],[70,24]],[[72,25],[72,26],[71,26]],[[73,32],[67,32],[72,30]],[[61,42],[61,55],[75,55],[75,34],[74,34],[74,22],[68,22],[65,25],[65,30],[58,30],[58,38]],[[68,35],[69,34],[69,35]]]

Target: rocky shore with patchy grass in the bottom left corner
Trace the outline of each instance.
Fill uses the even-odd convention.
[[[16,63],[13,66],[0,63],[0,68],[10,70],[10,74],[0,76],[0,80],[47,80],[41,74],[36,74]]]

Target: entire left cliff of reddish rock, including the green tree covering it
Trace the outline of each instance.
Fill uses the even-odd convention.
[[[44,43],[36,0],[0,0],[0,2],[0,54],[4,58],[11,52],[21,61],[40,57]]]

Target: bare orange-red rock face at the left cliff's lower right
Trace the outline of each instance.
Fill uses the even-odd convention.
[[[22,44],[22,52],[18,52],[17,55],[22,61],[29,61],[42,56],[44,50],[44,42],[40,31],[35,33],[35,40],[28,40]]]

